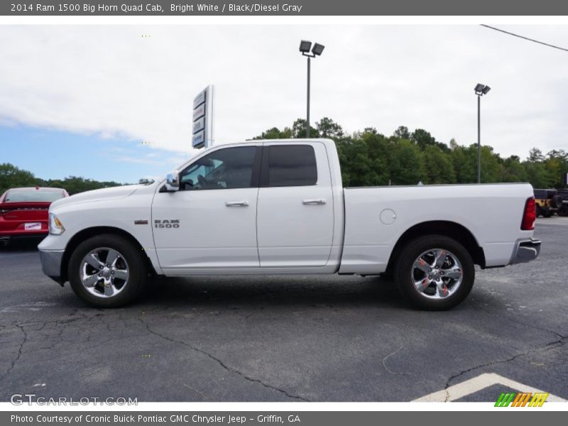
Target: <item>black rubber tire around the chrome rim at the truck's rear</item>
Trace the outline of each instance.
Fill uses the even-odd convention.
[[[415,261],[422,253],[434,249],[448,251],[461,263],[461,283],[453,294],[441,299],[430,298],[424,293],[420,293],[413,280]],[[421,236],[408,242],[398,256],[395,263],[395,280],[400,293],[415,307],[422,310],[447,310],[459,305],[471,292],[475,280],[474,262],[469,251],[452,238],[443,235]],[[445,289],[444,285],[444,291]]]

